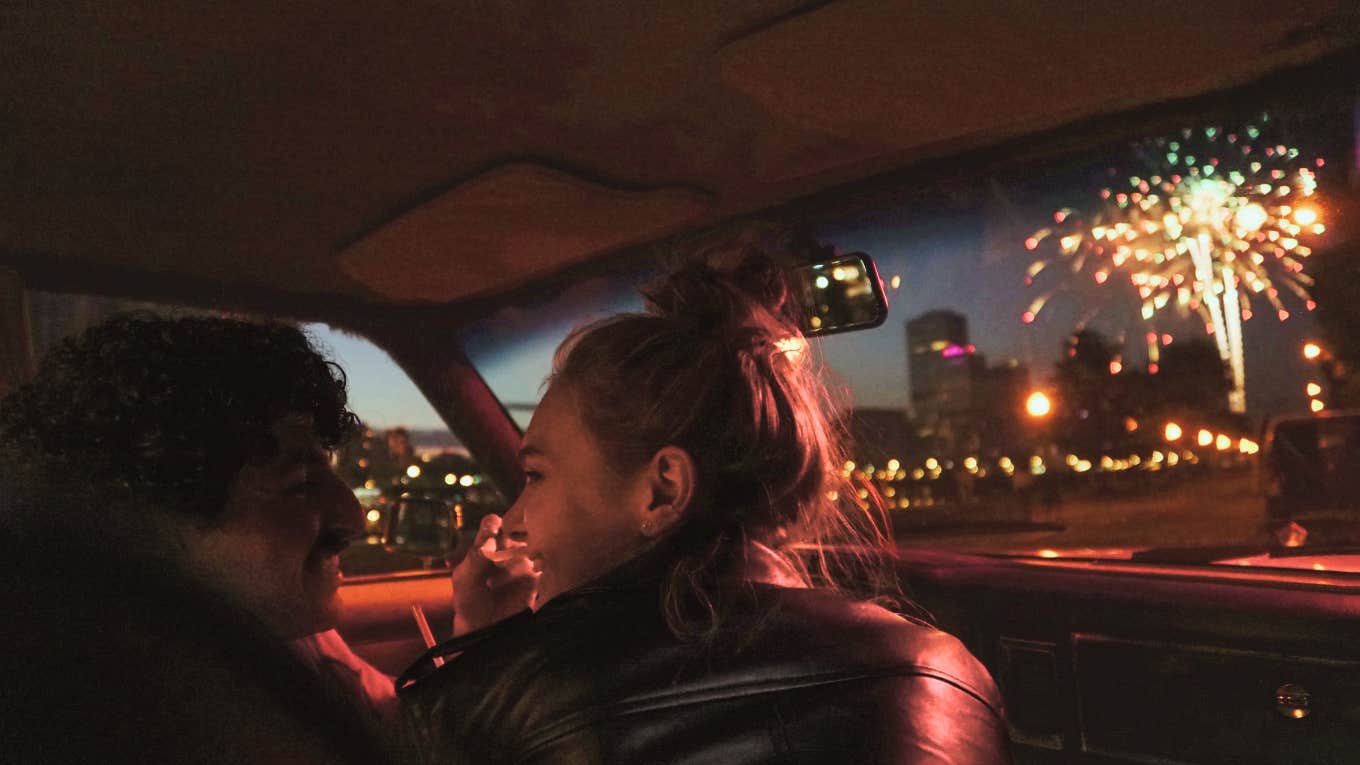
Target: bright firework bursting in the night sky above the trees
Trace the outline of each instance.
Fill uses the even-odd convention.
[[[1269,123],[1269,116],[1259,120]],[[1255,124],[1136,143],[1145,174],[1102,189],[1091,214],[1057,211],[1054,226],[1025,241],[1030,250],[1057,242],[1055,252],[1030,265],[1025,283],[1066,265],[1074,283],[1132,286],[1144,323],[1167,309],[1197,314],[1232,372],[1228,407],[1244,411],[1242,323],[1254,316],[1253,301],[1265,301],[1280,321],[1289,319],[1284,294],[1306,310],[1315,308],[1312,279],[1303,272],[1312,250],[1304,241],[1326,231],[1310,204],[1323,159],[1302,159],[1297,147],[1266,143]],[[1035,321],[1057,291],[1072,286],[1040,294],[1023,321]],[[1157,347],[1171,338],[1146,336],[1149,370],[1156,372]]]

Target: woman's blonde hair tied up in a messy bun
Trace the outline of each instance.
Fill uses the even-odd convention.
[[[642,294],[646,313],[574,331],[552,380],[578,393],[582,422],[620,472],[668,445],[695,461],[698,501],[665,540],[670,629],[715,634],[719,583],[749,542],[809,585],[853,581],[895,599],[881,504],[843,471],[846,432],[820,363],[787,353],[805,343],[783,268],[745,242],[710,249]],[[832,546],[842,553],[828,555]]]

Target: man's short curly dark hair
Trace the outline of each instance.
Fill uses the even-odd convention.
[[[0,402],[0,471],[16,505],[159,509],[214,520],[284,415],[333,449],[358,427],[344,372],[295,327],[114,316],[68,338]],[[72,519],[75,520],[75,519]]]

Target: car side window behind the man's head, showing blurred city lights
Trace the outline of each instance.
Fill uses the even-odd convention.
[[[33,363],[20,365],[24,368],[41,362],[64,338],[117,313],[222,316],[99,295],[37,290],[23,295],[27,338],[19,346],[33,357]],[[344,370],[350,408],[362,422],[355,437],[332,456],[336,472],[364,512],[363,536],[341,555],[345,576],[445,568],[445,544],[454,553],[465,549],[483,516],[505,512],[503,497],[386,353],[325,324],[301,328]],[[438,549],[431,540],[439,542]]]

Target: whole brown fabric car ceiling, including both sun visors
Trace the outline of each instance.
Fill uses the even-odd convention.
[[[1360,39],[1345,0],[0,14],[0,265],[280,312],[495,295]]]

